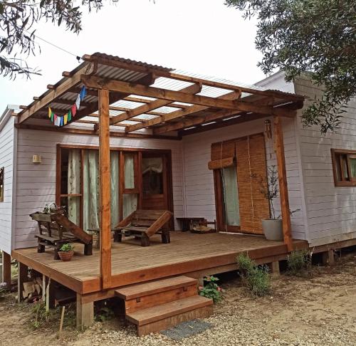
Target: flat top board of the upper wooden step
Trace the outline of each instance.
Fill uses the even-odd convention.
[[[119,288],[118,290],[115,290],[115,295],[122,299],[128,300],[140,298],[143,295],[161,293],[174,288],[187,287],[189,285],[197,285],[197,279],[188,278],[187,276],[175,276],[174,278],[167,278],[152,281],[150,283],[140,283],[138,285]]]

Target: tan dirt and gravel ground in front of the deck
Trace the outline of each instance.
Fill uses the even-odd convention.
[[[206,319],[213,327],[179,342],[159,333],[136,337],[116,318],[80,333],[67,323],[58,340],[59,312],[33,330],[31,305],[7,295],[0,301],[0,345],[356,345],[356,257],[313,267],[308,277],[273,279],[273,294],[263,298],[251,298],[238,279],[223,288],[223,303]]]

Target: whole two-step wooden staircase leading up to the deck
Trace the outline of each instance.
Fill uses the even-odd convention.
[[[173,327],[213,312],[213,301],[201,297],[197,280],[177,276],[115,290],[125,300],[125,316],[137,325],[139,336]]]

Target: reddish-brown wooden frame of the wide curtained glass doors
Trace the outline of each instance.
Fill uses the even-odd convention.
[[[80,158],[82,164],[80,165],[80,194],[61,194],[61,159],[62,150],[77,149],[80,150]],[[57,145],[57,154],[56,154],[56,204],[61,205],[61,198],[68,196],[80,196],[80,227],[83,228],[83,155],[84,150],[99,150],[99,147],[96,145]],[[126,148],[126,147],[110,147],[110,151],[119,152],[119,219],[122,220],[122,195],[123,194],[138,194],[137,198],[137,208],[142,206],[142,177],[141,174],[141,160],[142,153],[151,153],[151,154],[164,154],[164,157],[167,157],[167,198],[168,198],[168,209],[173,212],[173,182],[172,182],[172,150],[166,149],[145,149],[145,148]],[[124,154],[125,153],[135,153],[135,189],[125,189],[125,172],[124,172]],[[173,228],[172,228],[173,229]]]

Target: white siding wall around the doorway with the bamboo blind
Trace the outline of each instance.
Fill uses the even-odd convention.
[[[201,216],[209,220],[216,219],[214,178],[212,171],[208,169],[211,143],[263,132],[264,120],[222,127],[183,138],[185,216]],[[300,158],[298,157],[294,120],[283,120],[283,135],[290,209],[300,209],[292,217],[293,237],[305,239],[303,192],[300,191],[300,169],[298,164]],[[273,151],[273,140],[269,140],[266,143],[266,155],[268,165],[277,164],[276,154]],[[281,210],[279,199],[276,199],[273,205],[277,210],[277,214],[279,214]]]

